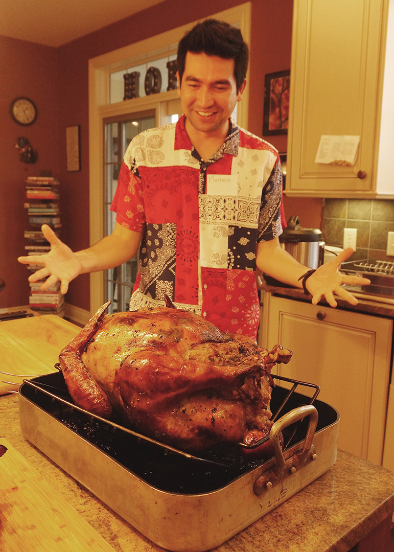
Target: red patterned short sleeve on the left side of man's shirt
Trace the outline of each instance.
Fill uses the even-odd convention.
[[[142,181],[124,161],[120,167],[118,186],[110,210],[116,213],[116,222],[128,230],[143,232],[145,229]]]

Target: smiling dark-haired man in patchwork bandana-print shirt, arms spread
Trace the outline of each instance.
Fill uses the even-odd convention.
[[[369,280],[342,275],[353,250],[311,271],[279,245],[279,154],[238,128],[231,114],[246,87],[248,47],[241,31],[214,19],[180,41],[178,91],[184,114],[176,124],[146,130],[130,143],[111,210],[111,235],[73,253],[48,226],[50,253],[20,257],[44,267],[29,280],[61,280],[62,293],[78,274],[118,266],[140,251],[130,310],[173,304],[222,331],[257,336],[260,306],[256,268],[304,287],[316,304],[334,294],[355,304],[341,285]]]

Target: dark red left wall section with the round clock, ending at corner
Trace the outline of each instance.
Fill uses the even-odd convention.
[[[58,172],[58,102],[60,98],[58,51],[47,46],[0,36],[0,307],[27,305],[28,270],[17,262],[24,254],[24,230],[28,227],[24,181],[40,170]],[[20,126],[10,117],[14,98],[27,96],[38,108],[31,126]],[[38,152],[38,161],[20,161],[15,149],[18,137],[25,136]]]

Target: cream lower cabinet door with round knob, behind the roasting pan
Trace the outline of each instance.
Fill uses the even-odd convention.
[[[340,413],[338,448],[381,464],[392,320],[264,294],[265,347],[293,351],[277,373],[320,385]]]

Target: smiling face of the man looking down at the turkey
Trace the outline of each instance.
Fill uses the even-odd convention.
[[[246,80],[237,92],[234,60],[188,52],[182,86],[179,82],[182,109],[189,123],[199,132],[225,138],[228,118],[242,98]]]

